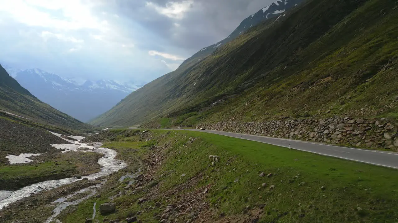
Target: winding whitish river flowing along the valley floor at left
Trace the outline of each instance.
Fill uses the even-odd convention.
[[[117,172],[120,169],[126,167],[125,162],[115,159],[117,155],[115,150],[99,147],[101,145],[102,145],[101,143],[89,143],[89,144],[82,143],[80,142],[80,140],[78,140],[76,142],[73,142],[73,144],[54,144],[52,146],[66,151],[72,150],[72,151],[81,151],[81,152],[98,152],[104,154],[104,156],[98,160],[98,163],[102,166],[101,171],[98,173],[93,173],[82,177],[82,178],[88,178],[89,180],[94,180],[98,177],[109,175],[110,173]],[[29,186],[25,186],[13,192],[0,190],[0,209],[4,208],[8,204],[11,204],[12,202],[16,202],[22,198],[31,196],[31,194],[33,193],[37,193],[42,190],[57,188],[59,186],[67,185],[79,180],[81,179],[71,177],[66,179],[35,183]]]

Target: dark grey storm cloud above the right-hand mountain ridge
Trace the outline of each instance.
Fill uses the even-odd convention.
[[[227,37],[246,17],[274,0],[191,0],[182,17],[170,17],[157,9],[189,0],[115,0],[119,13],[139,22],[175,47],[194,53]],[[156,9],[157,7],[157,9]],[[167,7],[167,8],[166,8]]]

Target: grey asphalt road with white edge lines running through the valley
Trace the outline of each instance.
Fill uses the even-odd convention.
[[[162,130],[182,130],[182,131],[201,131],[199,129],[162,129]],[[384,167],[398,169],[398,154],[394,152],[383,152],[375,150],[365,150],[349,147],[334,146],[316,142],[305,142],[284,138],[271,138],[266,136],[246,135],[241,133],[230,133],[215,130],[204,130],[201,132],[213,133],[218,135],[242,138],[257,142],[263,142],[276,146],[283,146],[295,150],[312,152],[324,156],[333,156],[345,160],[358,161]]]

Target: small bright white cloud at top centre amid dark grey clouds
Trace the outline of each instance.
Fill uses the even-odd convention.
[[[193,6],[193,0],[184,0],[182,2],[168,2],[166,7],[159,6],[153,2],[146,2],[146,7],[153,8],[159,14],[166,15],[172,19],[182,19],[184,13]]]

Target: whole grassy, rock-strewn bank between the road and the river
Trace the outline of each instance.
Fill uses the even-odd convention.
[[[127,167],[93,196],[60,213],[63,223],[94,221],[394,222],[397,170],[202,132],[110,130],[102,141]],[[220,156],[212,165],[209,155]],[[121,177],[143,163],[142,175]],[[130,185],[130,186],[129,186]],[[105,219],[105,220],[104,220]],[[176,220],[174,220],[176,219]]]

